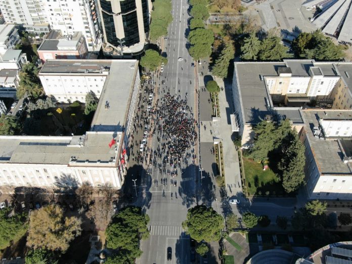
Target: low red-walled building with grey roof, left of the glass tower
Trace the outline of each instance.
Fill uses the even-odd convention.
[[[55,59],[85,59],[88,49],[82,32],[63,37],[59,30],[52,30],[41,42],[37,53],[41,63],[45,63]]]

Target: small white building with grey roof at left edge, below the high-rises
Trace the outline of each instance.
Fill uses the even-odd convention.
[[[17,25],[2,24],[0,25],[0,55],[7,50],[14,49],[16,44],[20,42]]]

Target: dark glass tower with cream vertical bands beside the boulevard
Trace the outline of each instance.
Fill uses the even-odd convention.
[[[98,8],[107,47],[119,55],[143,51],[152,9],[150,0],[98,0]]]

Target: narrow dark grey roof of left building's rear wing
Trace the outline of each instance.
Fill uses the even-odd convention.
[[[62,75],[65,73],[97,75],[108,72],[111,64],[112,60],[47,60],[41,67],[39,75]]]

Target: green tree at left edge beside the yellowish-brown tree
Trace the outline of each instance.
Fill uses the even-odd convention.
[[[9,216],[9,209],[0,210],[0,249],[8,247],[11,241],[17,242],[28,228],[24,215]]]

